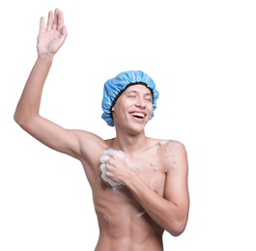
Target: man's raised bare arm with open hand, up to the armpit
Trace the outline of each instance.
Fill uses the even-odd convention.
[[[44,18],[41,17],[37,44],[38,58],[17,103],[14,121],[47,147],[78,158],[77,133],[57,126],[40,116],[43,85],[54,55],[66,38],[67,30],[60,10],[56,9],[54,13],[48,13],[46,26]]]

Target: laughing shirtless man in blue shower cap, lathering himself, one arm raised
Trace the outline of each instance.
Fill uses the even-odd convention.
[[[115,126],[115,138],[104,140],[44,119],[39,113],[43,84],[66,38],[60,10],[49,12],[46,26],[41,17],[38,58],[14,121],[47,147],[81,161],[99,221],[96,250],[163,250],[163,232],[177,237],[187,222],[185,146],[145,135],[158,93],[154,81],[140,70],[121,72],[104,85],[102,119]]]

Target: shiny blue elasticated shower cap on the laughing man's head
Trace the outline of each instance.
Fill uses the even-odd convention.
[[[116,100],[129,86],[135,84],[145,85],[151,90],[153,95],[153,112],[150,119],[153,118],[154,110],[156,109],[156,99],[159,96],[153,79],[142,70],[128,70],[119,73],[114,78],[108,79],[104,84],[103,98],[101,103],[103,114],[101,115],[101,118],[107,123],[108,126],[114,126],[111,109]]]

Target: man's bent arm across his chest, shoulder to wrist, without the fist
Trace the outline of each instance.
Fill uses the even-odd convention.
[[[164,198],[134,173],[126,185],[151,218],[161,228],[177,237],[185,230],[189,209],[187,158],[182,144],[179,144],[175,153],[175,166],[171,161],[168,165]]]

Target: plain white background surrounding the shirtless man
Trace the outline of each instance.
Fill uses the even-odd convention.
[[[144,70],[160,97],[147,135],[177,139],[189,161],[185,233],[165,250],[255,250],[254,1],[31,1],[0,4],[0,250],[93,250],[98,224],[81,164],[14,124],[37,58],[40,16],[60,8],[69,36],[42,115],[103,138],[106,79]]]

